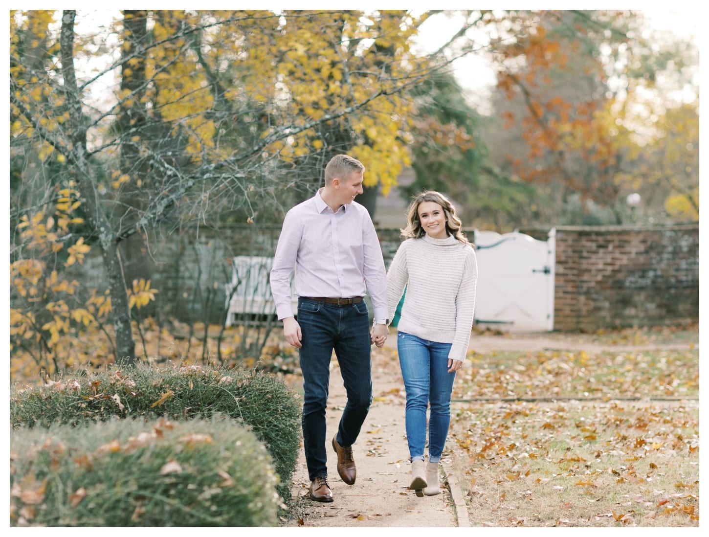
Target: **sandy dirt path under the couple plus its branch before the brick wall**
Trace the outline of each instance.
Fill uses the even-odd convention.
[[[536,352],[564,350],[642,350],[644,348],[689,348],[698,343],[655,345],[613,345],[593,343],[589,337],[560,334],[480,335],[471,338],[470,350],[478,353],[515,350]],[[353,446],[357,463],[357,482],[345,485],[337,475],[337,458],[329,449],[329,439],[337,431],[337,422],[345,404],[345,389],[339,366],[333,358],[330,366],[328,406],[328,475],[334,501],[329,504],[308,498],[308,474],[301,448],[298,468],[293,476],[295,518],[282,521],[281,527],[351,528],[351,527],[460,527],[469,526],[467,507],[454,475],[447,469],[451,461],[445,452],[440,474],[444,487],[433,497],[418,498],[408,490],[410,463],[406,444],[405,394],[396,358],[396,332],[389,334],[384,349],[373,348],[372,382],[374,401],[362,433]]]

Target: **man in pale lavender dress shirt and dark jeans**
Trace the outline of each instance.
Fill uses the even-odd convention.
[[[372,403],[372,343],[386,341],[386,269],[372,218],[354,201],[362,194],[364,165],[335,155],[325,167],[325,186],[296,205],[283,222],[271,289],[286,341],[298,348],[303,372],[303,444],[310,496],[332,502],[325,448],[330,358],[333,350],[347,391],[347,404],[332,445],[337,473],[353,485],[352,444]],[[291,306],[291,274],[298,320]],[[369,331],[369,292],[374,325]]]

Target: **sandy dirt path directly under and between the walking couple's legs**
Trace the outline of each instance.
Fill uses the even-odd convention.
[[[362,433],[352,450],[357,481],[351,487],[337,475],[337,457],[328,450],[328,477],[334,501],[320,504],[308,499],[308,473],[301,449],[293,477],[295,511],[286,526],[335,527],[455,527],[458,526],[450,491],[418,498],[408,490],[410,463],[404,436],[403,383],[391,353],[373,352],[374,401]],[[336,360],[330,375],[328,436],[337,432],[345,404],[345,389]],[[328,443],[329,447],[329,443]],[[301,524],[301,521],[303,524]]]

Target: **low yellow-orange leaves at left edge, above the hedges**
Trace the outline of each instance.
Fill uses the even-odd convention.
[[[57,270],[81,264],[91,246],[83,236],[72,236],[69,228],[82,223],[73,214],[81,206],[75,185],[69,182],[55,190],[53,204],[21,215],[17,226],[23,257],[10,264],[11,378],[106,365],[112,354],[105,326],[111,313],[108,291],[101,295],[93,289],[84,302],[79,297],[79,282]],[[58,256],[65,244],[66,259],[61,262]],[[155,299],[157,292],[150,280],[134,282],[132,291],[131,307],[138,308]]]

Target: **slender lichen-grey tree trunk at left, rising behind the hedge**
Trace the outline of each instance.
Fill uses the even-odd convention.
[[[96,192],[96,182],[89,172],[89,153],[86,150],[86,122],[82,113],[82,103],[79,99],[76,71],[74,70],[74,19],[76,11],[62,12],[61,58],[62,77],[69,109],[67,132],[71,134],[74,145],[72,165],[77,173],[79,194],[86,211],[89,225],[99,237],[99,245],[104,258],[104,268],[108,275],[108,289],[111,291],[111,309],[113,310],[113,329],[116,335],[116,362],[120,365],[135,363],[135,341],[133,329],[130,326],[130,308],[128,293],[123,282],[121,258],[118,255],[116,233],[111,228],[108,218],[99,205],[99,194]]]

